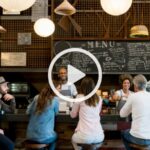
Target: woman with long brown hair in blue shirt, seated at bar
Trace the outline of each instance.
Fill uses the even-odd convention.
[[[57,89],[60,86],[57,84]],[[26,113],[30,115],[27,127],[27,141],[50,144],[49,150],[55,150],[57,134],[54,131],[55,116],[59,111],[59,100],[47,85],[34,97]]]

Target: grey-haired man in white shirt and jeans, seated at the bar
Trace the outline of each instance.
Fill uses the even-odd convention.
[[[129,143],[150,145],[150,93],[146,91],[147,80],[143,75],[133,79],[135,93],[128,97],[120,110],[121,117],[132,114],[131,129],[122,132],[122,139],[127,150]]]

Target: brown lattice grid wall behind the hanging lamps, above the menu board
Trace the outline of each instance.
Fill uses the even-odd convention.
[[[47,72],[47,68],[54,57],[54,42],[62,40],[135,40],[149,41],[148,38],[133,39],[129,37],[130,28],[141,23],[143,9],[143,24],[150,31],[150,2],[148,0],[133,0],[130,10],[121,16],[106,14],[99,0],[69,0],[75,4],[77,13],[71,16],[72,20],[81,27],[81,33],[68,17],[63,17],[67,31],[60,26],[62,16],[54,13],[62,0],[48,0],[48,15],[54,20],[56,29],[53,36],[42,38],[33,30],[31,21],[32,9],[21,12],[20,15],[1,14],[1,25],[7,33],[0,34],[0,52],[25,52],[27,65],[25,67],[0,67],[1,72]],[[2,13],[2,11],[1,11]],[[136,19],[133,19],[136,18]],[[18,33],[31,33],[31,45],[18,45]],[[0,54],[1,55],[1,54]],[[1,56],[0,56],[1,58]]]

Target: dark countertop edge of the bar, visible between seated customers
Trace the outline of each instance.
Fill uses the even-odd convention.
[[[18,111],[16,114],[1,115],[1,120],[4,122],[28,122],[29,116],[25,111]],[[78,118],[72,119],[69,114],[59,113],[56,116],[57,123],[77,124]],[[120,118],[119,114],[102,114],[101,123],[104,130],[117,130],[118,122],[128,122],[127,118]]]

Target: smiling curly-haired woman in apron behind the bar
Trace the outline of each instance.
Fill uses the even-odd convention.
[[[128,96],[133,94],[133,92],[130,91],[130,87],[132,85],[132,76],[130,74],[120,75],[119,82],[122,89],[117,90],[112,96],[112,101],[117,102],[116,107],[118,111],[120,111],[122,106],[126,103]]]

